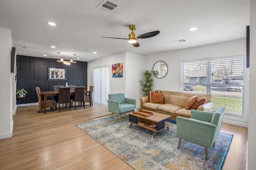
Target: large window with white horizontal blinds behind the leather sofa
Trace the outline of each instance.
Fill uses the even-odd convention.
[[[243,117],[244,56],[182,61],[182,91],[212,94],[212,110]]]

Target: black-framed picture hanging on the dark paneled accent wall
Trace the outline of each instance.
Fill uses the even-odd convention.
[[[48,67],[48,80],[66,80],[67,68]]]

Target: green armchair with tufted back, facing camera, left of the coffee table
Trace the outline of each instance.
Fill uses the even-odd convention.
[[[136,99],[126,98],[124,93],[108,94],[108,111],[119,115],[121,121],[121,114],[133,111],[136,108]]]

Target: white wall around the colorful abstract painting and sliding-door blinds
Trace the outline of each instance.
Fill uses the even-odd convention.
[[[93,68],[110,65],[110,72],[112,64],[124,63],[123,77],[112,78],[110,73],[110,94],[124,93],[127,98],[136,99],[136,107],[140,107],[140,97],[142,96],[140,80],[144,77],[144,63],[145,56],[134,53],[119,53],[102,59],[97,59],[88,62],[88,85],[93,83]]]

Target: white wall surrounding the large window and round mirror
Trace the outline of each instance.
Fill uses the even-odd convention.
[[[246,31],[246,27],[244,28]],[[168,73],[164,78],[154,79],[154,90],[181,91],[181,61],[207,59],[233,55],[246,56],[246,39],[227,41],[204,45],[189,49],[169,51],[153,54],[146,57],[146,69],[152,69],[157,61],[164,61],[168,66]],[[244,69],[244,79],[248,78],[249,71]],[[223,122],[248,127],[248,82],[244,82],[244,117],[224,116]]]

